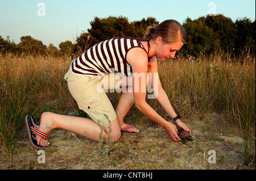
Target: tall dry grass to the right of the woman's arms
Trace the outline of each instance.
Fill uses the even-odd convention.
[[[214,54],[159,62],[159,77],[177,113],[223,113],[241,128],[245,165],[255,162],[255,58]]]

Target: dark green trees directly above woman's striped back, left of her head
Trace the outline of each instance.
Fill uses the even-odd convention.
[[[112,37],[143,37],[148,26],[158,24],[155,18],[142,19],[141,21],[129,22],[123,16],[109,16],[98,18],[90,22],[88,32],[82,32],[76,39],[75,52],[84,52],[89,47]],[[89,37],[89,38],[88,38]]]

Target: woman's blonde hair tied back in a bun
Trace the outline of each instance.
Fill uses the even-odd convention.
[[[165,20],[158,26],[154,24],[154,27],[148,27],[144,39],[154,40],[159,36],[162,37],[164,44],[171,44],[180,40],[185,43],[186,39],[184,28],[173,19]]]

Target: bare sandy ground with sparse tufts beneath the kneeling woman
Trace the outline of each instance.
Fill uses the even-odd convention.
[[[49,139],[51,148],[44,150],[45,163],[38,163],[38,150],[32,148],[24,129],[11,161],[1,150],[0,167],[13,170],[250,169],[242,164],[243,142],[239,129],[231,128],[224,122],[220,124],[220,120],[223,120],[222,115],[217,113],[195,115],[193,120],[183,120],[194,139],[186,144],[171,141],[166,131],[154,123],[136,125],[142,129],[141,134],[122,134],[113,145],[100,145],[88,138],[56,129]],[[100,148],[107,149],[107,153],[104,154]],[[215,159],[210,150],[216,153]]]

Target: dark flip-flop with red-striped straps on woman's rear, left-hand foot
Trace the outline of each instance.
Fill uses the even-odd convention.
[[[49,144],[47,146],[38,145],[38,143],[36,141],[36,134],[39,135],[40,137],[44,138],[45,140],[48,140],[49,136],[46,133],[43,133],[38,130],[39,126],[36,125],[35,117],[32,115],[27,115],[25,120],[26,120],[26,126],[27,126],[27,131],[28,131],[28,137],[30,138],[30,142],[31,142],[32,146],[34,146],[34,148],[40,149],[40,150],[50,147],[51,144]]]

